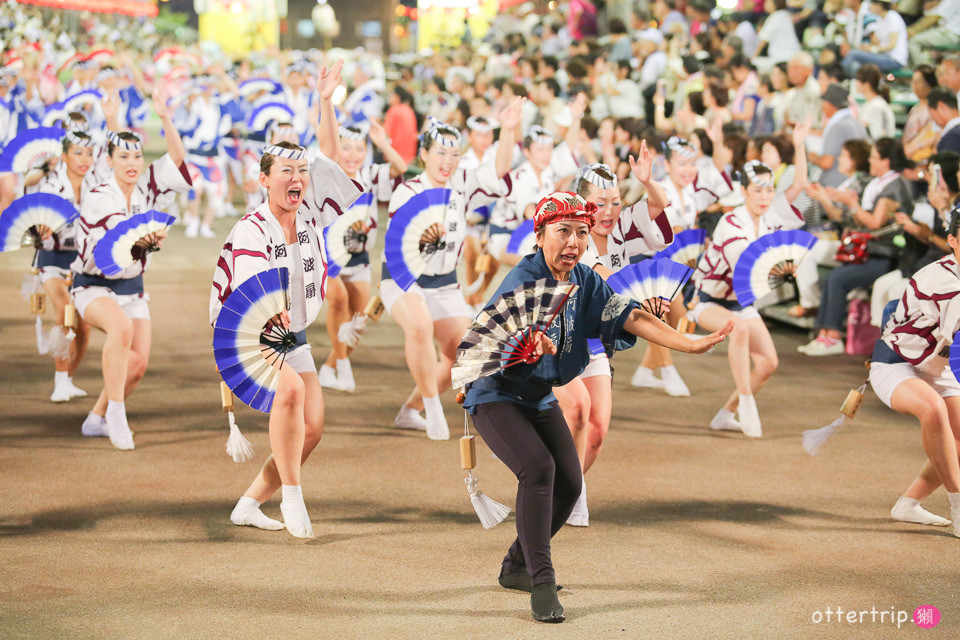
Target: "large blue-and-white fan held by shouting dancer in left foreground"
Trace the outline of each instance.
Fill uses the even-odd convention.
[[[267,323],[289,307],[290,275],[268,269],[245,280],[224,301],[213,323],[213,357],[228,387],[251,408],[268,413],[294,333]]]

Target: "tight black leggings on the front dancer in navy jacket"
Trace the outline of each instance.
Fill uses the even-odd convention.
[[[556,402],[544,411],[491,402],[477,407],[473,424],[520,481],[517,539],[503,559],[504,571],[526,569],[534,586],[556,582],[550,538],[570,517],[583,480],[563,412]]]

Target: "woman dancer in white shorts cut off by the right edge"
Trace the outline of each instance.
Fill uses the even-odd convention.
[[[960,214],[956,209],[947,243],[951,253],[910,279],[883,327],[870,364],[870,384],[885,405],[920,421],[927,454],[920,475],[890,515],[903,522],[949,525],[949,520],[920,506],[942,484],[950,499],[953,534],[960,537],[960,384],[947,363],[960,321]]]

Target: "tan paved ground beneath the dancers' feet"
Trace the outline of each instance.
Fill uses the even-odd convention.
[[[613,423],[587,477],[591,526],[554,543],[558,627],[497,586],[514,521],[479,526],[456,441],[390,428],[411,383],[386,317],[356,352],[358,392],[326,396],[303,478],[316,539],[232,526],[269,448],[266,420],[239,410],[257,461],[233,463],[206,322],[219,243],[180,235],[147,276],[154,354],[128,402],[133,452],[80,436],[91,400],[48,401],[52,363],[18,293],[29,256],[0,255],[3,638],[957,637],[960,541],[887,517],[923,461],[917,426],[869,395],[808,456],[801,431],[833,420],[864,370],[859,358],[804,359],[805,336],[786,330],[759,441],[705,428],[731,388],[722,349],[677,358],[694,393],[679,400],[627,386],[640,349],[615,358]],[[325,357],[323,327],[310,333]],[[101,344],[77,377],[91,392]],[[444,403],[460,424],[449,393]],[[482,446],[479,459],[481,486],[512,504],[509,472]],[[942,491],[927,506],[949,511]],[[265,510],[279,517],[277,501]],[[923,604],[942,612],[935,630],[890,622]],[[850,623],[851,610],[867,613]]]

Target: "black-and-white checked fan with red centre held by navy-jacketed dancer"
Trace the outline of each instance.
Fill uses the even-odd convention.
[[[522,362],[535,362],[534,334],[553,323],[577,289],[572,282],[541,278],[499,296],[463,336],[451,371],[453,388]]]

